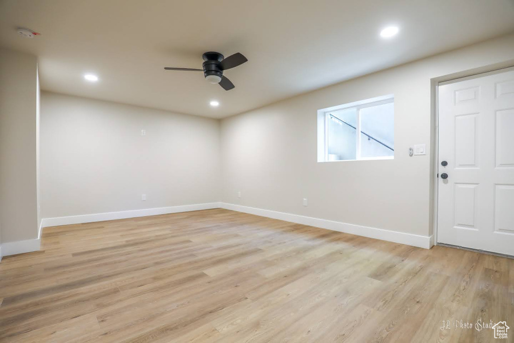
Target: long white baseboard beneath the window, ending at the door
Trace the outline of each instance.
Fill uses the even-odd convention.
[[[234,205],[228,203],[219,203],[219,207],[228,210],[261,215],[268,218],[279,219],[287,222],[298,223],[309,226],[321,227],[328,230],[356,234],[369,238],[375,238],[383,241],[390,241],[394,243],[407,244],[417,246],[420,248],[430,249],[433,243],[433,236],[420,236],[419,234],[391,231],[378,229],[375,227],[360,226],[354,224],[347,224],[342,222],[335,222],[331,220],[312,218],[308,216],[291,214],[285,212],[277,212],[271,210],[264,210],[261,208]]]

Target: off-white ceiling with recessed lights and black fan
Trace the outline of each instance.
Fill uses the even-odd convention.
[[[222,118],[511,32],[513,18],[512,0],[0,0],[0,45],[37,55],[48,91]],[[381,39],[390,24],[399,34]],[[205,51],[248,58],[225,72],[235,89],[163,70],[201,68]]]

